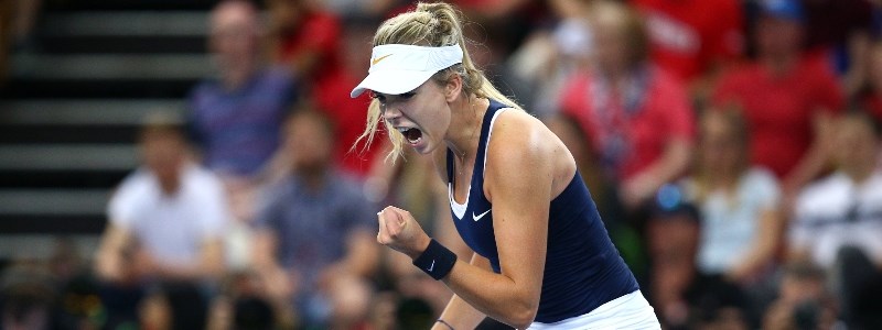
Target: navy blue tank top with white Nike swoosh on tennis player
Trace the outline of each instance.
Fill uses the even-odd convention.
[[[453,198],[453,153],[448,150],[448,194],[456,230],[465,243],[490,260],[501,273],[493,233],[493,205],[484,196],[486,148],[493,121],[505,105],[491,100],[481,127],[477,154],[465,205]],[[537,322],[551,323],[588,314],[638,289],[634,275],[613,246],[577,170],[570,184],[551,200],[548,252]]]

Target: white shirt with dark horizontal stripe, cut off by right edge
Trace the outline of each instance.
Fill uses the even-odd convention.
[[[882,170],[860,185],[836,173],[808,186],[796,200],[789,242],[825,267],[845,245],[882,260]]]

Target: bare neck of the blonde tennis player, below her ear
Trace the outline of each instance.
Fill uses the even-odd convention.
[[[481,122],[488,106],[490,100],[476,97],[461,98],[451,105],[451,130],[445,142],[458,161],[464,163],[475,156]]]

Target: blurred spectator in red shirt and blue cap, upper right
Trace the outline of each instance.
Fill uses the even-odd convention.
[[[724,75],[718,108],[736,106],[750,127],[750,160],[781,180],[784,205],[818,176],[827,160],[825,132],[841,110],[841,89],[827,63],[800,48],[798,0],[763,0],[756,26],[757,59]]]

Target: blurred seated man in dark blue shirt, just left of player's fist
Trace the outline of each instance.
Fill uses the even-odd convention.
[[[286,128],[293,164],[257,218],[257,271],[275,299],[292,302],[303,326],[363,321],[346,318],[361,315],[346,302],[361,304],[369,294],[366,278],[378,263],[377,209],[332,163],[335,135],[325,116],[304,108]],[[341,293],[337,285],[352,289]]]

